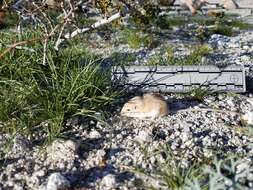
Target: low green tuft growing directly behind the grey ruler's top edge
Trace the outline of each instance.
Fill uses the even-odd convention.
[[[203,64],[202,58],[211,51],[212,48],[208,45],[197,45],[192,47],[192,52],[189,55],[178,57],[174,55],[173,48],[168,47],[165,52],[152,57],[147,65],[200,65]]]

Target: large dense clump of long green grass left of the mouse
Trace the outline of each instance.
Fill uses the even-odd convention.
[[[15,50],[1,60],[1,132],[19,131],[32,136],[35,126],[38,130],[44,123],[39,130],[52,140],[61,136],[67,118],[91,118],[113,100],[109,74],[85,49],[73,47],[56,52],[49,47],[47,64],[42,65],[42,45],[31,47],[32,53]]]

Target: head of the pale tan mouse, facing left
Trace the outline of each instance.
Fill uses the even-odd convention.
[[[121,109],[120,115],[133,117],[135,114],[140,113],[142,107],[143,98],[140,96],[136,96],[124,104],[123,108]]]

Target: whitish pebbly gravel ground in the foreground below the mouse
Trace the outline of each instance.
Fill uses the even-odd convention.
[[[182,168],[224,152],[253,155],[253,134],[241,126],[239,115],[252,109],[251,98],[210,95],[200,104],[176,95],[166,97],[171,110],[167,117],[141,121],[116,115],[107,124],[97,123],[91,129],[74,118],[69,121],[74,129],[66,134],[72,140],[56,140],[45,150],[23,136],[16,136],[3,163],[0,189],[49,190],[60,189],[61,185],[77,189],[141,189],[136,184],[147,176],[132,170],[155,171],[157,163],[165,162],[165,147]],[[210,107],[238,114],[182,111]],[[4,138],[11,137],[1,138],[0,142],[4,142]],[[251,162],[245,164],[252,167]],[[150,185],[167,189],[156,182],[151,180]],[[252,184],[250,178],[249,189]]]

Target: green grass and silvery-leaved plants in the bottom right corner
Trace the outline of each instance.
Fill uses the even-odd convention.
[[[145,153],[145,152],[144,152]],[[217,189],[249,189],[246,176],[252,172],[250,167],[240,169],[246,155],[223,154],[222,157],[206,158],[202,161],[192,160],[190,167],[183,165],[183,160],[176,160],[169,147],[160,148],[156,154],[163,155],[164,160],[156,162],[156,169],[149,173],[143,170],[136,172],[156,181],[164,189],[175,190],[217,190]],[[182,154],[184,154],[182,152]],[[154,156],[149,155],[149,157]],[[182,155],[181,155],[182,156]],[[247,162],[247,161],[246,161]],[[250,164],[250,161],[248,161]],[[240,171],[239,171],[240,170]],[[138,182],[145,189],[156,190],[150,181]]]

